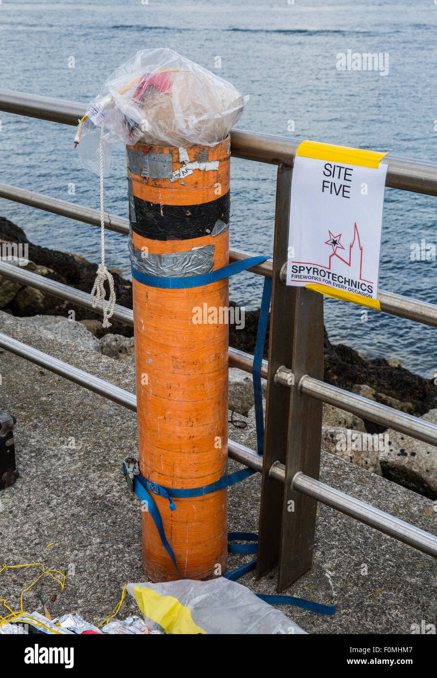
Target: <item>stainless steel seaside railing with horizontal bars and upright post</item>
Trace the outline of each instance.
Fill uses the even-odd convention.
[[[22,92],[0,91],[0,110],[76,125],[85,113],[85,106]],[[317,501],[437,557],[436,536],[318,481],[322,402],[433,445],[437,445],[437,426],[322,381],[322,296],[305,288],[285,285],[291,168],[299,143],[299,140],[243,130],[231,132],[232,155],[278,165],[274,258],[249,269],[273,278],[269,360],[262,365],[262,376],[268,380],[265,453],[261,458],[234,441],[228,441],[228,453],[263,475],[257,577],[278,564],[279,590],[311,566]],[[387,186],[437,195],[437,163],[390,154],[384,161],[388,162]],[[0,184],[0,197],[100,226],[100,212],[88,207],[5,184]],[[119,216],[106,214],[105,226],[117,233],[129,233],[129,221]],[[249,256],[238,250],[230,252],[231,261]],[[101,308],[92,307],[85,292],[24,271],[19,266],[0,262],[0,275],[102,313]],[[437,327],[437,306],[433,304],[392,292],[379,291],[378,298],[381,311]],[[113,317],[133,325],[133,311],[129,308],[116,304]],[[285,333],[289,341],[284,341]],[[0,334],[0,346],[136,411],[136,396],[122,388],[4,334]],[[229,364],[251,372],[253,357],[230,347]]]

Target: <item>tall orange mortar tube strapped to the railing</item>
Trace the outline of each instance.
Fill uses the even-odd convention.
[[[138,143],[127,150],[128,154],[129,150],[152,154],[149,157],[170,155],[173,172],[183,166],[178,148]],[[196,157],[218,161],[218,168],[193,169],[192,174],[171,182],[134,174],[128,159],[135,214],[134,221],[131,212],[132,243],[152,254],[214,245],[215,270],[228,264],[229,230],[209,235],[203,224],[211,214],[228,221],[230,140],[213,148],[188,146],[186,151],[190,161]],[[141,163],[141,155],[136,157]],[[167,167],[169,162],[167,157]],[[139,171],[138,165],[134,168]],[[193,210],[192,206],[198,207]],[[182,220],[183,228],[171,225],[173,215]],[[195,308],[204,309],[204,304],[206,308],[228,307],[228,279],[181,290],[149,287],[133,279],[140,471],[164,487],[201,487],[226,473],[228,324],[193,322]],[[153,498],[180,574],[190,579],[223,574],[226,489],[175,499],[175,511],[170,511],[165,498]],[[142,513],[142,555],[152,581],[180,578],[147,511]]]

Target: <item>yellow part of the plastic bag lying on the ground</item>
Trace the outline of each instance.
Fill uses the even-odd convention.
[[[144,616],[162,626],[165,633],[207,633],[193,622],[189,608],[182,605],[177,598],[159,595],[152,589],[146,589],[146,586],[135,586],[133,593]]]

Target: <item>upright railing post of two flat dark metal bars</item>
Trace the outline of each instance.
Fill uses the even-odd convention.
[[[274,234],[272,308],[266,431],[259,513],[257,578],[278,565],[278,590],[312,565],[317,502],[293,490],[297,471],[318,479],[322,403],[297,389],[304,374],[323,378],[323,297],[304,287],[287,287],[291,168],[278,168]],[[291,383],[275,379],[278,367],[291,369]],[[291,386],[291,387],[290,387]],[[285,464],[285,485],[269,475],[275,461]]]

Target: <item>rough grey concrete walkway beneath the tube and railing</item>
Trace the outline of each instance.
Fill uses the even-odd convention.
[[[1,312],[0,332],[135,391],[133,368],[126,363]],[[43,577],[24,595],[26,611],[41,610],[38,590],[52,616],[71,610],[99,623],[118,603],[125,582],[145,580],[140,506],[127,493],[120,469],[121,459],[137,449],[136,416],[7,352],[0,351],[0,373],[0,409],[18,419],[16,454],[22,476],[0,493],[1,563],[43,563],[67,574],[64,591]],[[251,423],[245,429],[230,424],[229,437],[255,449]],[[234,462],[229,466],[230,471],[238,468]],[[437,532],[431,500],[325,452],[320,479]],[[259,492],[259,474],[230,488],[229,530],[257,532]],[[403,634],[421,620],[437,623],[434,559],[321,504],[316,535],[312,570],[284,593],[335,604],[337,613],[327,617],[280,607],[308,633]],[[228,566],[233,569],[249,559],[230,555]],[[3,570],[0,598],[18,610],[21,591],[39,572],[37,567]],[[255,593],[276,593],[274,572],[260,582],[252,572],[239,582]],[[125,599],[119,616],[136,610]]]

